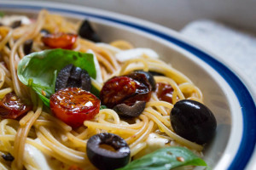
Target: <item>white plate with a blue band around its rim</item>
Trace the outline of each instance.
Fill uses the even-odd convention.
[[[216,136],[204,151],[208,165],[216,170],[256,169],[256,160],[251,158],[256,156],[255,94],[237,71],[176,31],[148,21],[70,4],[0,2],[1,10],[12,13],[35,14],[42,8],[79,20],[89,19],[105,42],[125,39],[137,47],[157,51],[201,88],[205,104],[217,118]]]

